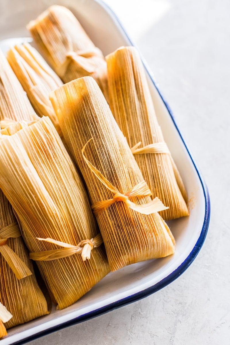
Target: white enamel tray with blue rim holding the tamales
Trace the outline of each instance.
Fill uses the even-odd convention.
[[[54,3],[69,7],[104,55],[120,46],[132,45],[114,13],[100,0],[9,0],[0,2],[3,52],[10,45],[30,40],[26,24]],[[147,68],[146,73],[159,124],[188,192],[190,216],[168,222],[177,243],[175,254],[108,274],[72,306],[58,311],[53,306],[49,315],[9,329],[1,345],[23,344],[146,297],[178,278],[197,256],[209,225],[208,190]]]

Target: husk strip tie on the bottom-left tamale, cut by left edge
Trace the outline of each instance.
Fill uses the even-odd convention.
[[[0,230],[0,253],[18,279],[22,279],[32,274],[27,265],[7,245],[8,238],[16,238],[20,236],[21,233],[17,223],[12,223]]]

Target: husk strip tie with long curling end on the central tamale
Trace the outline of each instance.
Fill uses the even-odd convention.
[[[136,186],[134,186],[129,191],[127,191],[125,194],[120,193],[119,190],[116,187],[114,187],[101,174],[101,172],[91,164],[91,162],[84,155],[84,150],[90,140],[92,140],[92,138],[87,141],[86,145],[84,145],[84,147],[81,150],[83,159],[86,162],[87,166],[90,168],[91,172],[101,181],[101,183],[106,188],[108,188],[112,193],[114,193],[113,198],[108,199],[108,200],[98,201],[97,203],[91,206],[96,217],[101,211],[105,210],[106,208],[108,208],[110,205],[112,205],[113,203],[117,201],[123,201],[123,203],[125,203],[132,210],[137,211],[141,214],[145,214],[145,215],[149,215],[155,212],[168,209],[168,207],[164,206],[164,204],[161,202],[161,200],[158,197],[154,198],[150,203],[143,204],[143,205],[134,204],[132,201],[129,200],[129,198],[131,197],[141,197],[141,196],[152,195],[146,181],[144,180],[141,181]]]

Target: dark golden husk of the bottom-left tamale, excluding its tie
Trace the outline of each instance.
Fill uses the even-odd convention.
[[[13,223],[16,223],[16,218],[12,207],[0,190],[0,231]],[[48,314],[48,310],[46,299],[34,276],[33,266],[22,237],[8,238],[7,245],[32,272],[32,275],[17,279],[4,257],[0,254],[0,301],[13,315],[5,323],[6,328],[10,328]]]

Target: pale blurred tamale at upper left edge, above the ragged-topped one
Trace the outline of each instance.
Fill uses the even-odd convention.
[[[31,120],[32,114],[26,92],[0,50],[0,120]]]

